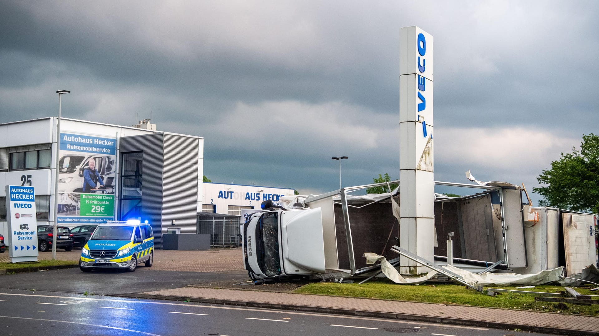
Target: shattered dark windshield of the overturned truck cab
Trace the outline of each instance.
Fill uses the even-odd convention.
[[[260,268],[267,276],[281,274],[281,262],[279,259],[279,224],[277,213],[267,213],[260,218],[256,227],[258,241],[261,242],[258,251],[258,262]]]

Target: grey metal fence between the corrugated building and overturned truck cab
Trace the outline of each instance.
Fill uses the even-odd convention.
[[[239,218],[240,216],[198,212],[198,233],[210,234],[211,248],[239,246]]]

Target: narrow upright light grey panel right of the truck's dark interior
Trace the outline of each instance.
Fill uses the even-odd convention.
[[[527,267],[521,191],[502,189],[502,193],[508,265],[509,267]]]

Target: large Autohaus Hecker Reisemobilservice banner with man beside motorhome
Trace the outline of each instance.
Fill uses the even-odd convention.
[[[115,177],[115,138],[60,133],[58,222],[98,224],[114,219]]]

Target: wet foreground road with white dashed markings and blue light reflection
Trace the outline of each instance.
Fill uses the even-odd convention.
[[[247,307],[0,289],[2,335],[542,335]]]

